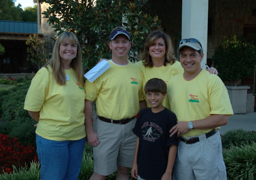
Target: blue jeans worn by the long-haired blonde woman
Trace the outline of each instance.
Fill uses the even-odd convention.
[[[36,142],[41,163],[41,180],[78,179],[85,138],[76,141],[52,141],[36,135]]]

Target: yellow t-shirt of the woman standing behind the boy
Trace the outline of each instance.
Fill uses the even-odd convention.
[[[182,66],[180,65],[180,62],[178,61],[176,61],[174,64],[167,63],[166,66],[164,65],[161,67],[153,66],[152,68],[145,67],[142,61],[136,62],[135,65],[137,65],[143,72],[143,96],[145,100],[147,100],[147,96],[144,91],[144,86],[148,80],[152,78],[159,78],[164,80],[165,83],[168,84],[168,81],[171,79],[171,77],[184,72]],[[168,101],[167,94],[162,104],[163,106],[165,106],[167,109],[170,110],[170,103]],[[147,102],[147,107],[151,107],[148,102]]]

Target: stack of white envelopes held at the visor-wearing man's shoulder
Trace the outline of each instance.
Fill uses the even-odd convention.
[[[84,77],[92,83],[97,79],[103,72],[105,72],[108,68],[110,68],[109,61],[102,60],[96,66],[94,66],[90,71],[88,71]]]

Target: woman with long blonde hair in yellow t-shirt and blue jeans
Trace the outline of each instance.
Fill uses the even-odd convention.
[[[85,145],[82,53],[75,34],[61,33],[52,58],[31,81],[24,109],[38,122],[41,179],[78,179]]]

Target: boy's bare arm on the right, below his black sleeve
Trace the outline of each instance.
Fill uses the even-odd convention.
[[[171,173],[172,173],[176,153],[177,153],[177,146],[175,144],[171,144],[169,149],[169,154],[168,154],[167,168],[161,180],[167,180],[167,179],[171,180]]]

